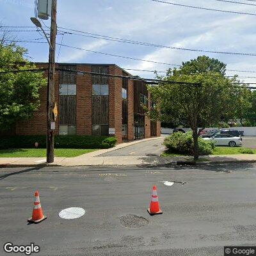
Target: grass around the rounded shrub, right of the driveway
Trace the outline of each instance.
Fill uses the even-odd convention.
[[[253,154],[256,154],[256,149],[250,149],[250,148],[243,148],[243,147],[216,147],[213,151],[212,155],[238,155],[238,154],[248,154],[248,150],[252,151]],[[243,153],[242,153],[243,152]],[[251,153],[252,154],[252,153]],[[163,157],[167,156],[186,156],[186,155],[180,155],[175,153],[168,153],[163,152],[161,154]]]

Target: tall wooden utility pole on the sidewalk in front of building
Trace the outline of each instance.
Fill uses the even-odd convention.
[[[47,84],[47,163],[54,162],[54,129],[55,120],[52,113],[54,108],[54,74],[55,74],[55,48],[56,48],[56,33],[57,33],[57,0],[52,0],[52,13],[51,13],[51,46],[49,47],[49,70],[48,70],[48,84]]]

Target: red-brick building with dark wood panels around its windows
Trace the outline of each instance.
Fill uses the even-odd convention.
[[[47,63],[36,63],[47,68]],[[58,71],[58,68],[60,71]],[[160,136],[160,122],[145,116],[141,103],[150,107],[145,82],[122,77],[96,76],[61,69],[131,76],[114,64],[56,64],[55,134],[115,135],[118,143]],[[47,74],[45,74],[47,76]],[[47,88],[40,92],[40,108],[30,120],[17,123],[15,134],[45,134]]]

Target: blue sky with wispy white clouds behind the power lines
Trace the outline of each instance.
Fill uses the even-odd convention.
[[[216,0],[166,1],[218,10],[256,13],[256,1],[234,0],[240,3],[255,4],[255,6]],[[34,0],[0,0],[0,22],[3,26],[33,26],[29,19],[33,16],[35,16]],[[151,0],[58,0],[57,23],[63,28],[150,44],[206,51],[256,53],[256,15],[197,10]],[[50,20],[45,20],[45,25],[50,26]],[[9,30],[19,29],[24,30],[24,28],[10,28]],[[42,38],[37,31],[13,31],[11,34],[17,40]],[[175,65],[205,54],[226,63],[228,70],[256,72],[256,56],[180,51],[68,34],[58,35],[57,43],[61,44],[61,40],[63,45]],[[46,42],[46,39],[38,40],[38,42]],[[19,42],[19,44],[28,49],[31,61],[48,61],[49,47],[47,44],[24,42]],[[57,60],[64,63],[115,63],[122,68],[157,71],[173,68],[172,65],[129,60],[65,46],[61,46],[60,49],[60,45],[56,48]],[[129,72],[134,76],[154,77],[152,72],[134,70],[129,70]],[[256,77],[256,73],[227,72],[228,76],[234,74],[241,77]],[[242,78],[241,80],[246,83],[256,83],[256,78]]]

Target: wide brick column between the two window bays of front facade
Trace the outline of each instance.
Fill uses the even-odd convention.
[[[77,70],[92,72],[91,66],[77,65]],[[76,77],[76,132],[92,134],[92,76]]]

